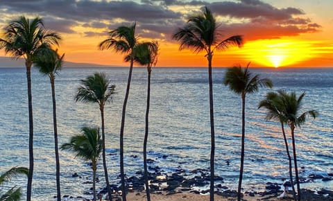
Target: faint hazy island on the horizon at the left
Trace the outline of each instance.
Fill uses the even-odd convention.
[[[17,60],[12,60],[9,57],[0,57],[0,68],[3,67],[24,67],[24,59],[19,58]],[[64,67],[119,67],[119,66],[112,66],[112,65],[102,65],[102,64],[92,64],[92,63],[76,63],[76,62],[66,62]]]

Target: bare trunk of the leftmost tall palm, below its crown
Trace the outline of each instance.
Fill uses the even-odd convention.
[[[26,200],[31,201],[33,186],[33,98],[31,92],[31,60],[26,60],[26,80],[28,84],[28,110],[29,110],[29,174],[26,185]]]

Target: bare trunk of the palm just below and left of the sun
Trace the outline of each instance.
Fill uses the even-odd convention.
[[[243,181],[244,172],[244,152],[245,152],[245,93],[241,94],[241,168],[239,168],[238,196],[241,200],[241,182]]]

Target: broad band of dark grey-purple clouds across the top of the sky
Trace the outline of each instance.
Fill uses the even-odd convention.
[[[117,26],[137,22],[142,37],[170,40],[171,33],[185,25],[185,15],[171,10],[170,6],[208,6],[219,19],[227,22],[221,28],[228,33],[244,35],[247,39],[276,38],[284,35],[316,32],[321,26],[306,17],[299,8],[276,8],[260,0],[238,1],[92,1],[92,0],[1,0],[0,9],[10,15],[40,15],[46,26],[63,33],[73,33],[72,26],[105,28],[105,32]],[[189,7],[191,8],[191,7]],[[225,21],[228,19],[229,21]],[[235,21],[237,23],[235,23]],[[239,23],[239,21],[244,21]],[[87,36],[101,35],[86,31]],[[102,33],[103,34],[103,33]]]

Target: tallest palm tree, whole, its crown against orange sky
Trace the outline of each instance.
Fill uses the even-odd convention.
[[[180,41],[180,50],[192,49],[195,53],[205,51],[208,61],[208,77],[210,85],[210,129],[211,129],[211,154],[210,154],[210,200],[214,200],[214,155],[215,155],[215,132],[214,132],[214,105],[212,83],[212,58],[214,51],[228,49],[230,46],[241,46],[241,35],[233,35],[221,40],[217,29],[216,19],[209,8],[205,7],[203,13],[189,17],[184,28],[178,28],[173,34],[173,39]]]

